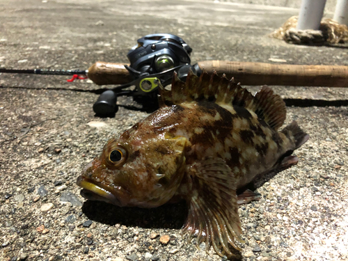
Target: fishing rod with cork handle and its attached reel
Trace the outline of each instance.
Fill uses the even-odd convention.
[[[189,70],[198,76],[203,68],[243,85],[347,87],[348,66],[278,65],[234,61],[200,61],[191,65],[192,49],[182,38],[168,33],[145,35],[127,54],[130,64],[98,61],[88,70],[17,70],[0,68],[0,73],[72,75],[72,79],[89,78],[97,85],[119,85],[106,90],[93,104],[98,116],[118,111],[117,97],[131,96],[141,103],[157,102],[158,86],[171,84],[173,73],[185,81]],[[129,87],[135,86],[133,89]]]

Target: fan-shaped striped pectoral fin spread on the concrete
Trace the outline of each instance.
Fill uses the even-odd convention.
[[[197,245],[212,245],[219,255],[235,255],[228,244],[240,251],[243,242],[238,215],[236,179],[223,159],[205,157],[189,170],[193,189],[188,198],[189,214],[184,232],[197,236]],[[220,249],[223,248],[225,253]]]

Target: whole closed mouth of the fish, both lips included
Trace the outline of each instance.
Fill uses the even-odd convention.
[[[113,187],[100,182],[94,182],[84,176],[77,178],[77,185],[81,188],[81,196],[88,200],[104,201],[119,207],[124,207],[128,203],[128,191],[122,187]],[[115,196],[118,195],[118,196]]]

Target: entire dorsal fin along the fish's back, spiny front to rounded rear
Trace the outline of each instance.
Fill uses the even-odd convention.
[[[175,72],[171,90],[160,86],[159,93],[161,106],[203,100],[241,106],[255,112],[274,129],[283,125],[286,117],[285,102],[279,95],[274,94],[271,88],[263,86],[254,96],[236,83],[235,79],[228,80],[225,74],[219,77],[216,72],[209,75],[204,69],[200,77],[190,70],[185,82],[181,81]]]

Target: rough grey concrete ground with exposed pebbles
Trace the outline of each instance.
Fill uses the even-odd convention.
[[[212,1],[0,0],[0,67],[127,63],[128,50],[149,33],[179,35],[193,48],[193,63],[348,65],[345,46],[294,46],[268,37],[297,13]],[[115,118],[97,118],[92,105],[101,87],[65,80],[0,74],[0,260],[221,260],[182,237],[183,204],[120,208],[79,196],[81,169],[111,136],[148,113],[122,98]],[[287,108],[286,123],[299,122],[310,140],[296,150],[297,166],[258,189],[260,201],[239,207],[241,258],[347,260],[348,92],[274,90],[290,105],[315,101]],[[164,235],[168,244],[159,241]]]

